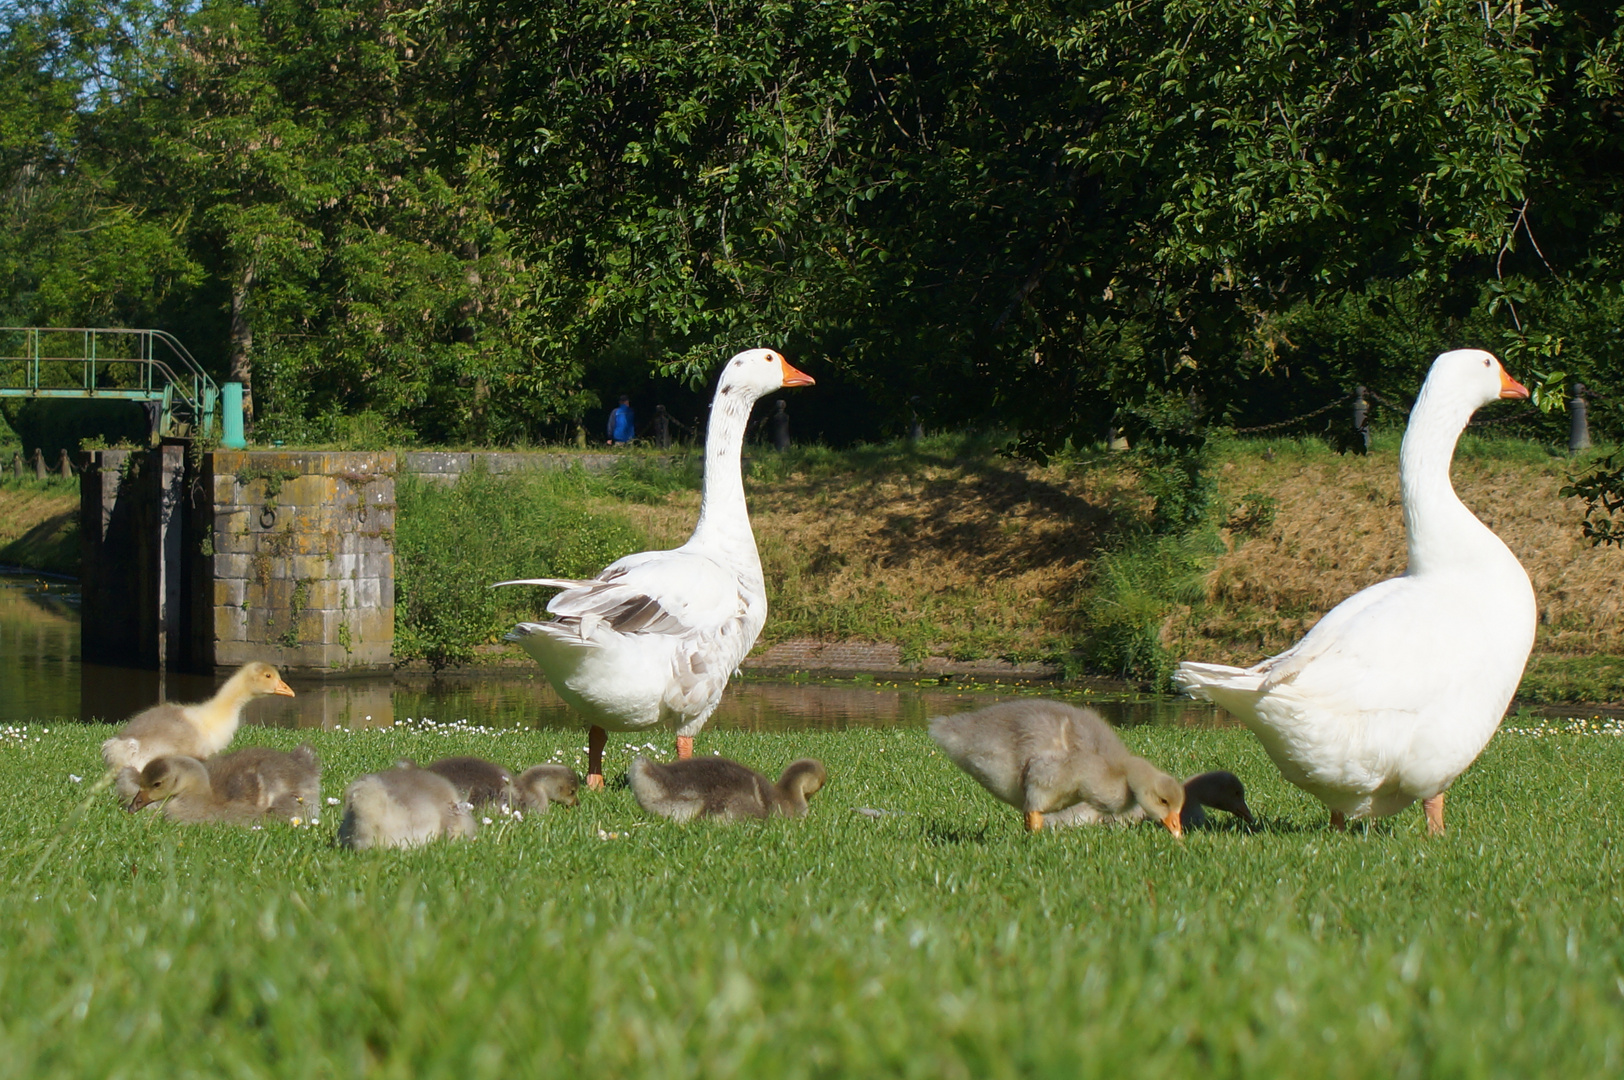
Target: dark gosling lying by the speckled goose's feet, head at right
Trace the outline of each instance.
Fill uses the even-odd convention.
[[[695,757],[658,765],[646,757],[632,758],[627,771],[637,804],[650,814],[689,822],[713,817],[726,822],[742,817],[802,817],[807,799],[828,780],[823,763],[804,757],[791,762],[775,784],[754,768],[724,757]]]

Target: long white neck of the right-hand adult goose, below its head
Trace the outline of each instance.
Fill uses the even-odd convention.
[[[1455,443],[1476,403],[1449,383],[1421,388],[1398,455],[1398,484],[1405,503],[1408,575],[1458,572],[1512,557],[1501,539],[1466,508],[1449,479]]]

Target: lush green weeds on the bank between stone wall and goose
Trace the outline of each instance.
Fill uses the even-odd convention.
[[[583,578],[643,547],[612,512],[581,502],[606,482],[568,471],[490,476],[456,484],[396,479],[395,658],[435,669],[464,664],[515,622],[546,617],[551,591],[510,578]]]

